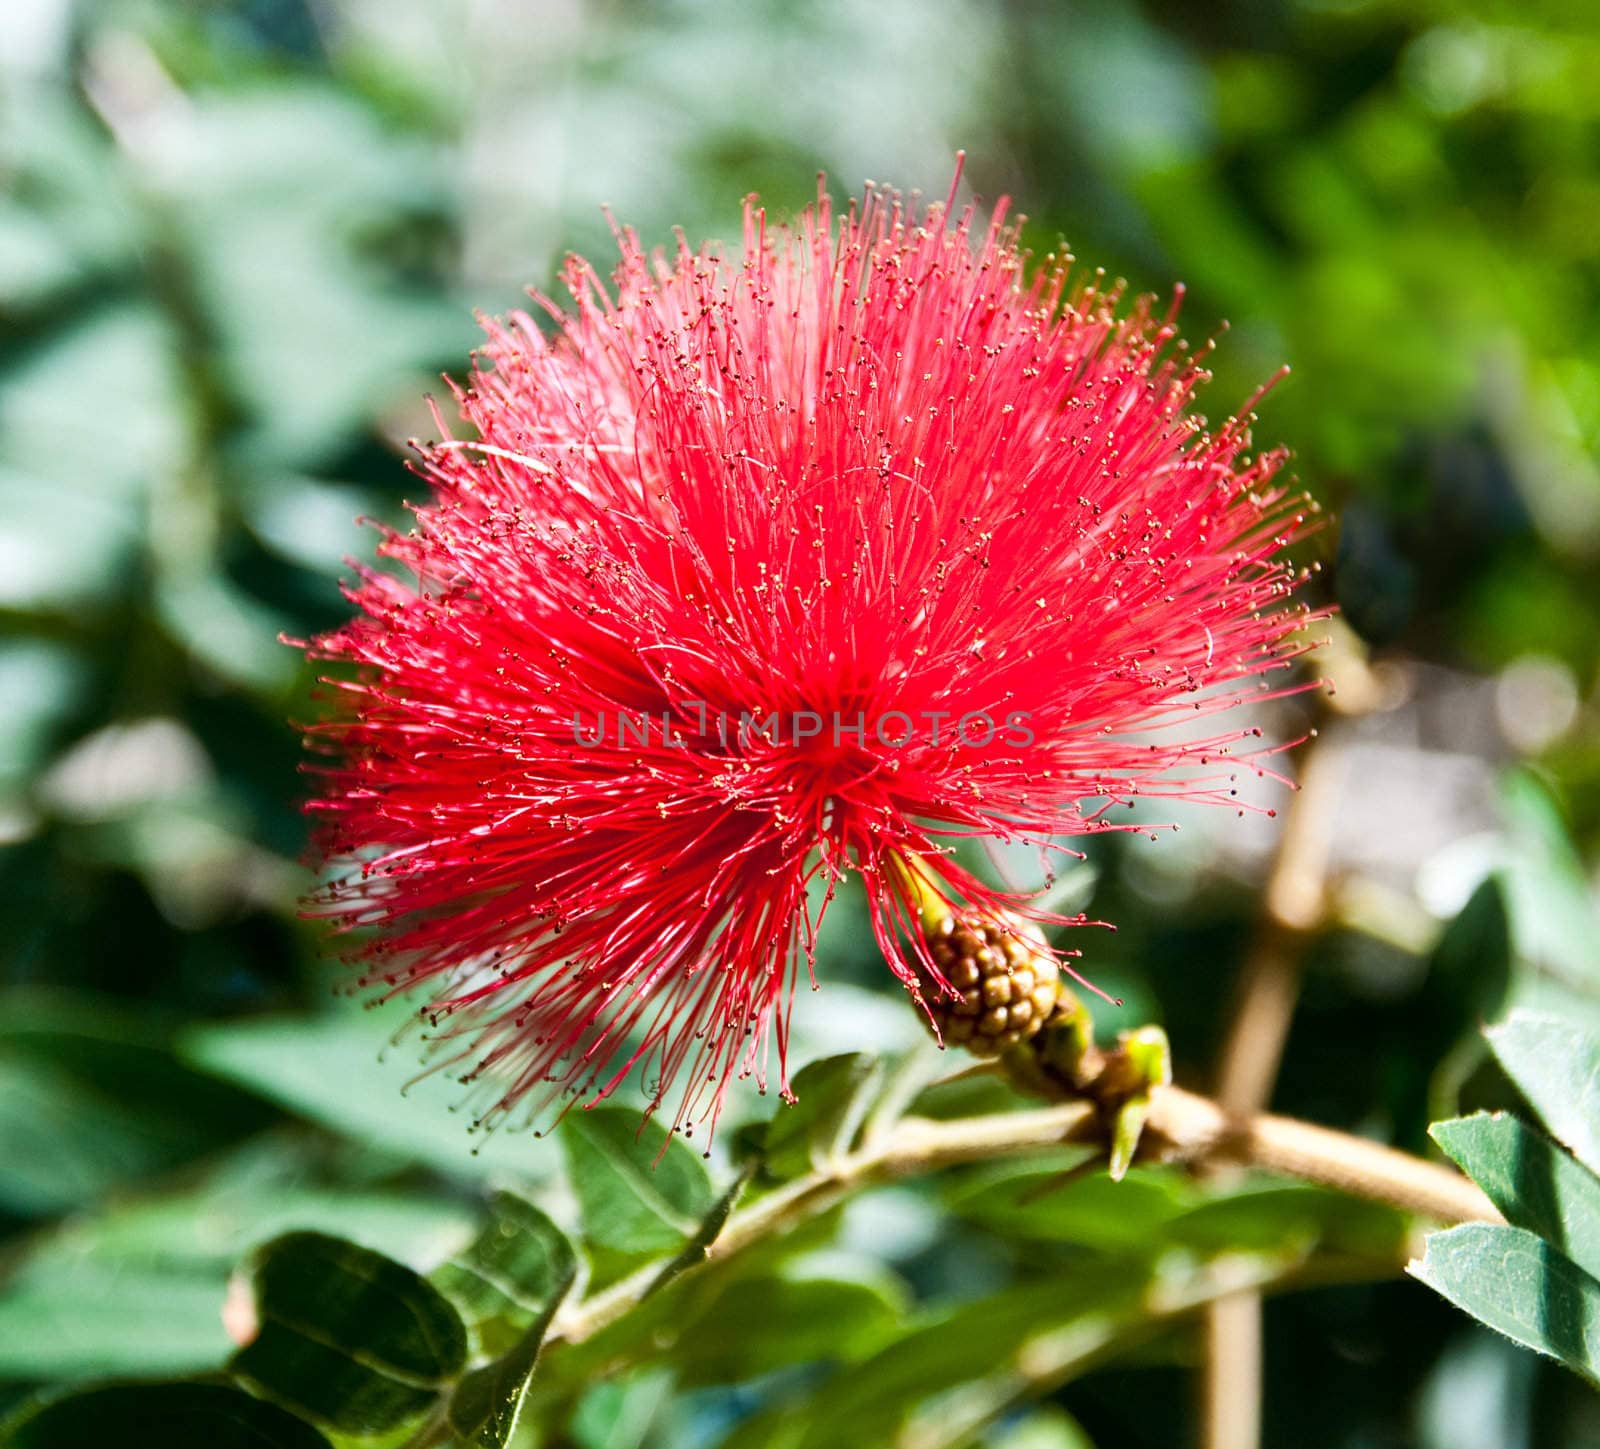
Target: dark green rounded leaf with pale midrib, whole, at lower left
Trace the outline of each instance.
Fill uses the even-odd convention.
[[[306,1419],[374,1435],[429,1409],[467,1334],[437,1287],[354,1243],[290,1233],[253,1263],[259,1332],[230,1371]]]

